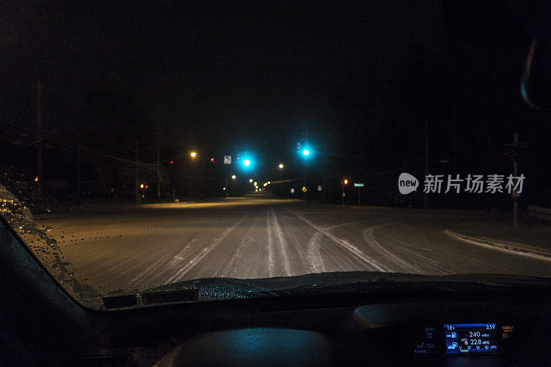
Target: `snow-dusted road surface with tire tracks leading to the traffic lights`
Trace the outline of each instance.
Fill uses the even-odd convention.
[[[444,229],[472,213],[319,205],[259,196],[124,206],[43,223],[76,279],[105,291],[200,277],[328,271],[551,276],[551,262],[479,247]],[[63,237],[62,237],[63,236]]]

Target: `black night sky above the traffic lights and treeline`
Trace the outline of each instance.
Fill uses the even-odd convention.
[[[515,129],[548,153],[550,134],[533,134],[550,132],[547,120],[519,95],[533,31],[521,10],[509,1],[4,3],[1,119],[32,131],[40,77],[45,130],[85,134],[129,158],[136,137],[152,145],[161,127],[172,147],[248,148],[268,164],[292,155],[306,129],[333,165],[384,171],[419,165],[424,120],[435,159],[452,158],[456,140],[461,164],[476,167]]]

